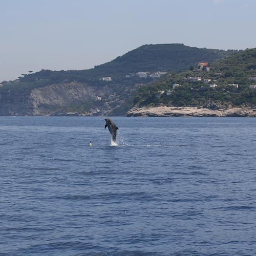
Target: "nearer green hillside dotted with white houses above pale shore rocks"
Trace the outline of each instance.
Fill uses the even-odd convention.
[[[194,67],[142,87],[134,108],[166,105],[228,109],[256,105],[256,48],[212,63],[208,71]],[[206,63],[205,63],[206,65]]]

